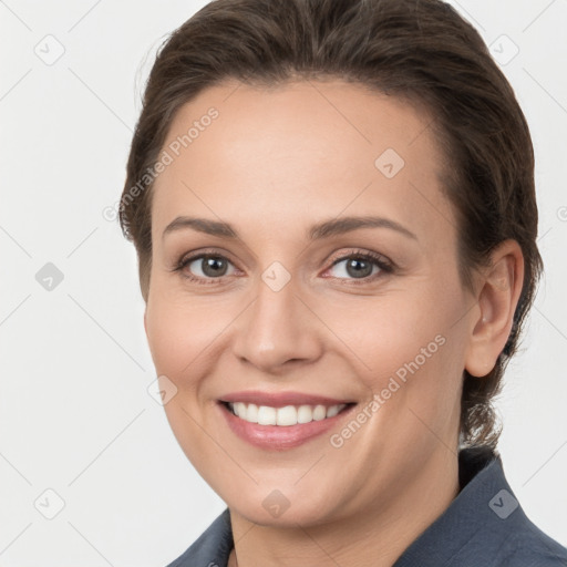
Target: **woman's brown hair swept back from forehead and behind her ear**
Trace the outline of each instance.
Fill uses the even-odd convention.
[[[162,45],[147,80],[118,210],[134,241],[147,301],[155,165],[176,111],[223,80],[269,87],[339,78],[422,105],[446,157],[443,190],[457,219],[462,281],[512,238],[525,276],[508,341],[494,369],[464,370],[463,445],[496,446],[491,400],[516,352],[543,269],[529,130],[478,32],[441,0],[216,0]],[[135,190],[134,190],[135,189]]]

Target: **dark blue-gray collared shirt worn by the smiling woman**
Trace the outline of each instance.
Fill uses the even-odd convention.
[[[567,567],[567,548],[526,516],[498,453],[488,447],[461,450],[458,480],[456,498],[393,567]],[[226,508],[167,567],[226,567],[233,546]]]

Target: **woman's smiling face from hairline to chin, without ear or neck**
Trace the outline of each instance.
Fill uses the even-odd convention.
[[[456,461],[478,313],[430,120],[333,81],[173,122],[145,327],[181,446],[252,522],[386,509]]]

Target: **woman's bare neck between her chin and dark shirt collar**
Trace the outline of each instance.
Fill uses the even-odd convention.
[[[401,487],[394,497],[389,495],[388,504],[371,503],[352,517],[278,528],[255,524],[230,511],[236,544],[228,567],[295,567],[298,561],[312,567],[392,567],[458,491],[458,460],[446,451],[417,471],[412,486]]]

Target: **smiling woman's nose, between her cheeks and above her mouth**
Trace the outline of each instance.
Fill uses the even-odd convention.
[[[281,374],[321,357],[324,326],[290,280],[275,291],[258,281],[256,299],[235,321],[234,353],[262,373]]]

